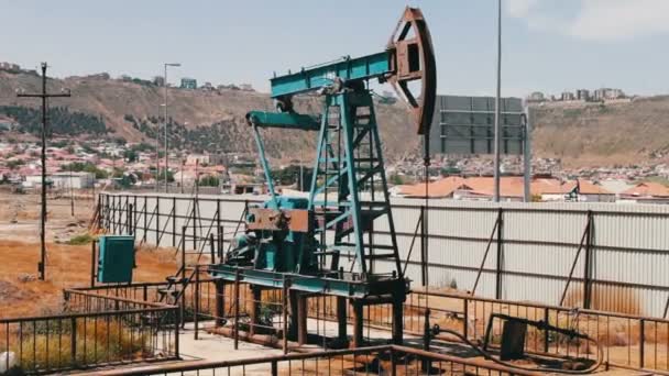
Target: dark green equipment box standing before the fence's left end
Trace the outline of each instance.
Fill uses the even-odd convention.
[[[134,236],[103,235],[99,237],[98,281],[122,284],[132,281]]]

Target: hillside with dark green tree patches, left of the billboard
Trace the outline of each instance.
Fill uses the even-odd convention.
[[[28,74],[0,71],[0,107],[36,107],[32,99],[17,98],[21,88],[26,92],[40,90],[40,78]],[[128,142],[152,142],[158,117],[162,117],[163,89],[145,82],[121,81],[92,77],[70,77],[48,80],[48,88],[59,91],[69,88],[72,98],[53,99],[51,107],[68,107],[70,112],[87,113],[102,119],[107,136],[123,137]],[[171,88],[169,113],[175,132],[173,142],[193,150],[251,152],[255,144],[244,115],[250,110],[272,110],[266,93],[240,90],[202,91]],[[297,101],[299,111],[318,113],[317,98]],[[1,113],[0,113],[1,114]],[[391,159],[399,157],[418,145],[419,137],[408,126],[408,112],[401,103],[376,107],[384,147]],[[162,123],[162,121],[160,121]],[[141,124],[144,123],[144,126]],[[267,153],[273,158],[308,157],[315,150],[315,132],[266,130]],[[96,132],[95,136],[99,136]],[[89,134],[90,136],[91,134]],[[85,136],[85,135],[83,135]],[[408,141],[408,142],[407,142]],[[299,145],[299,147],[295,147]]]

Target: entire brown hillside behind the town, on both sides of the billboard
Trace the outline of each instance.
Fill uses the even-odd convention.
[[[128,142],[155,140],[162,123],[163,90],[147,81],[121,81],[99,76],[48,80],[50,90],[69,88],[73,97],[51,101],[54,132],[80,137],[122,137]],[[0,115],[23,119],[22,129],[39,130],[39,106],[19,99],[17,89],[39,91],[40,77],[0,71]],[[19,108],[18,108],[19,107]],[[315,97],[300,98],[303,112],[320,112]],[[266,93],[169,89],[171,143],[190,151],[255,153],[244,121],[250,110],[271,110]],[[13,111],[13,112],[12,112]],[[408,123],[404,104],[376,107],[386,158],[418,153],[420,139]],[[629,103],[533,108],[535,157],[561,158],[564,166],[612,166],[667,161],[669,157],[669,97],[636,99]],[[67,124],[72,126],[68,129]],[[56,126],[57,125],[57,126]],[[268,155],[275,159],[310,158],[315,133],[266,130]],[[25,136],[18,135],[19,137]],[[298,147],[296,147],[298,146]]]

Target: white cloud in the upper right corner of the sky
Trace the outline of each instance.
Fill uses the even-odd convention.
[[[579,0],[575,15],[547,10],[555,0],[506,0],[507,13],[531,30],[585,41],[619,41],[669,33],[669,0]],[[569,7],[567,2],[563,5]]]

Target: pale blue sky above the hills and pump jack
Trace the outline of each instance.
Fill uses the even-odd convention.
[[[382,51],[406,4],[431,29],[439,92],[494,93],[496,0],[0,0],[0,60],[141,78],[179,62],[171,81],[267,91],[274,70]],[[504,0],[503,22],[505,96],[669,93],[669,0]]]

